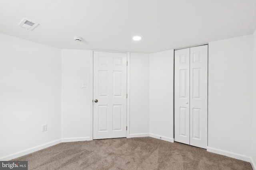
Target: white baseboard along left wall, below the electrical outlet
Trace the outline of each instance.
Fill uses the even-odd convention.
[[[51,147],[51,146],[53,146],[53,145],[57,145],[57,144],[59,144],[59,143],[61,143],[61,140],[60,140],[60,139],[58,139],[58,140],[56,140],[56,141],[52,141],[52,142],[45,143],[45,144],[43,144],[43,145],[38,145],[38,146],[32,147],[32,148],[30,148],[30,149],[22,150],[22,151],[20,151],[20,152],[16,152],[16,153],[13,153],[13,154],[9,154],[9,155],[7,155],[7,156],[3,156],[3,157],[0,158],[0,160],[1,160],[1,161],[12,160],[12,159],[14,159],[14,158],[18,158],[18,157],[20,157],[20,156],[24,156],[24,155],[30,154],[30,153],[32,153],[32,152],[36,152],[36,151],[38,151],[38,150],[45,149],[45,148]]]

